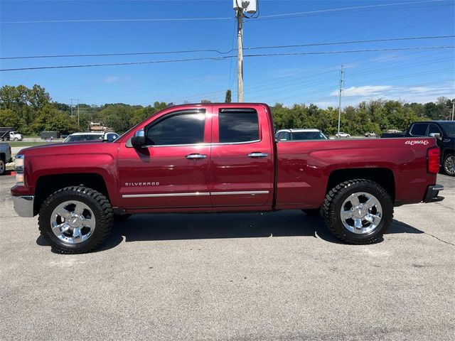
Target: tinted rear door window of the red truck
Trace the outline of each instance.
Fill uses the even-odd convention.
[[[220,143],[259,140],[257,112],[220,112]]]

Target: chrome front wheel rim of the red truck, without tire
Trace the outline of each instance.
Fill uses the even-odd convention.
[[[85,242],[93,234],[95,224],[92,209],[77,200],[62,202],[50,215],[52,232],[68,244]]]

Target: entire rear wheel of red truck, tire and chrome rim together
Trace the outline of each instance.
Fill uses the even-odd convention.
[[[323,218],[336,237],[350,244],[370,244],[382,238],[392,223],[389,193],[370,180],[348,180],[326,195]]]

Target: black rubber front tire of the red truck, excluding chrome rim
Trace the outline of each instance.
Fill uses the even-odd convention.
[[[95,215],[96,225],[93,234],[79,244],[68,244],[59,239],[50,226],[50,216],[55,207],[68,200],[77,200],[90,207]],[[62,254],[82,254],[92,251],[105,241],[112,229],[114,213],[105,195],[82,186],[62,188],[51,194],[41,205],[38,226],[41,235],[50,242],[53,251]]]

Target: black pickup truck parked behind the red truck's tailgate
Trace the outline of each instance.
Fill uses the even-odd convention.
[[[405,133],[382,134],[381,138],[430,136],[441,150],[441,171],[455,176],[455,121],[421,121],[412,123]]]

